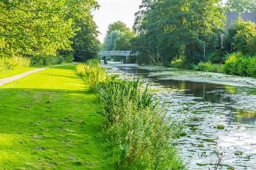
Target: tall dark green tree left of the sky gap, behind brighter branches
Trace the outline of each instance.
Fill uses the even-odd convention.
[[[67,19],[72,19],[72,27],[76,30],[75,36],[69,39],[72,50],[63,53],[73,54],[76,61],[85,61],[96,58],[100,52],[100,41],[97,39],[97,25],[93,21],[91,10],[98,7],[95,1],[66,0],[68,3]],[[91,2],[91,3],[88,3]],[[91,5],[91,6],[89,6]]]

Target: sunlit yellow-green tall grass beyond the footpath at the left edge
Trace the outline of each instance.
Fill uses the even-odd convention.
[[[30,59],[28,58],[20,56],[0,57],[0,72],[7,72],[29,66]]]

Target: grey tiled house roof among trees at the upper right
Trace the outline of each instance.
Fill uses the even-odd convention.
[[[226,22],[228,27],[235,23],[236,19],[240,15],[244,22],[254,22],[256,24],[256,13],[239,13],[239,12],[225,12]]]

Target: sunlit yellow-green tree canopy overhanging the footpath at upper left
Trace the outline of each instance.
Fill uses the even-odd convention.
[[[1,0],[0,53],[55,54],[71,49],[75,20],[97,8],[94,0]]]

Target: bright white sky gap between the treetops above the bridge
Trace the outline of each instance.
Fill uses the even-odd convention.
[[[106,36],[108,25],[118,20],[132,28],[134,23],[134,13],[139,10],[141,0],[97,0],[100,9],[93,11],[93,20],[98,26],[101,35],[98,39],[103,42]]]

